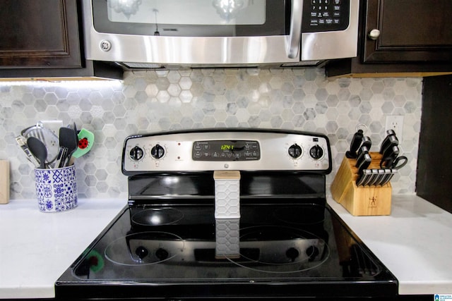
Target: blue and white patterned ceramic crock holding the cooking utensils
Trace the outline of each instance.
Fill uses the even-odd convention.
[[[56,212],[77,206],[75,166],[35,169],[36,195],[40,211]]]

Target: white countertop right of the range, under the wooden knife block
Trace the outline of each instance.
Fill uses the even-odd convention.
[[[390,216],[328,204],[396,276],[400,295],[452,294],[452,214],[415,195],[393,195]]]

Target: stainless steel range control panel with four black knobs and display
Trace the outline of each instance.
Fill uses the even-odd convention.
[[[208,130],[134,135],[124,142],[126,175],[184,171],[331,172],[324,135],[304,132]]]

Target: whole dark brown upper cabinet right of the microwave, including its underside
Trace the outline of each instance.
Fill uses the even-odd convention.
[[[328,61],[334,77],[452,73],[451,0],[361,0],[358,56]]]

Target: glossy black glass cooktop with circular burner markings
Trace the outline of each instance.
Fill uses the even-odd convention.
[[[396,278],[316,204],[126,207],[57,281],[71,297],[396,295]],[[359,283],[359,285],[357,285]]]

